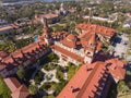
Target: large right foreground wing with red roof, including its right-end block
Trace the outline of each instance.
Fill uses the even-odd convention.
[[[92,64],[84,64],[66,85],[57,98],[106,98],[111,82],[111,76],[124,78],[126,72],[120,74],[120,71],[126,70],[124,63],[115,63],[114,60],[107,60],[106,62],[97,61]],[[116,64],[119,70],[110,72],[110,62]],[[118,60],[118,62],[121,62]],[[119,72],[118,72],[119,71]],[[110,76],[111,75],[111,76]],[[116,79],[115,79],[116,81]]]

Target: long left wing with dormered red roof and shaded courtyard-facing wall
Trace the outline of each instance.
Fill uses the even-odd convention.
[[[19,65],[33,65],[37,59],[49,52],[49,48],[45,46],[45,41],[33,42],[20,50],[15,50],[0,62],[0,75],[7,77],[15,74]]]

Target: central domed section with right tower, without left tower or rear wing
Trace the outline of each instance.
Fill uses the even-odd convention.
[[[67,57],[67,61],[72,61],[76,64],[76,58],[73,56],[80,57],[79,61],[84,63],[91,63],[93,61],[94,53],[98,52],[102,49],[103,44],[98,39],[98,36],[95,33],[83,33],[79,37],[73,34],[64,35],[61,34],[61,37],[57,37],[52,50],[61,58],[61,56]],[[59,48],[59,49],[58,49]],[[66,51],[69,52],[66,54]],[[61,54],[60,54],[61,53]]]

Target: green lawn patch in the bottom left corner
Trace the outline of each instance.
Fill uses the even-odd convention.
[[[0,77],[0,98],[11,98],[11,91],[3,82],[2,77]]]

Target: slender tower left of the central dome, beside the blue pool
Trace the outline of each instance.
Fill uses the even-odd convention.
[[[41,23],[44,25],[44,28],[43,28],[43,39],[46,41],[47,45],[50,45],[50,41],[51,41],[51,37],[50,37],[50,34],[49,34],[49,28],[48,28],[48,24],[47,24],[47,19],[41,19]]]

